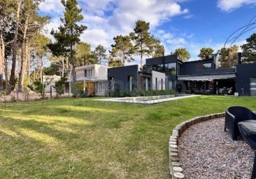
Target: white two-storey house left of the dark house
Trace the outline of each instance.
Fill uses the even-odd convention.
[[[82,83],[84,91],[89,94],[104,96],[107,89],[107,66],[98,64],[75,67],[75,77],[78,83]],[[65,93],[71,93],[72,76],[65,83]]]

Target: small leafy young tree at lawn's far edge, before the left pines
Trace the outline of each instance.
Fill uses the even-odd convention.
[[[28,85],[28,88],[32,90],[33,92],[36,92],[40,98],[42,98],[42,103],[44,105],[44,98],[45,98],[45,89],[46,86],[48,86],[51,83],[51,81],[48,81],[48,78],[43,83],[39,80],[34,81],[33,85]]]

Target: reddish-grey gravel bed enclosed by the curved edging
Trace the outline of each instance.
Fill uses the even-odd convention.
[[[250,178],[255,152],[224,132],[224,118],[192,125],[179,139],[185,178]]]

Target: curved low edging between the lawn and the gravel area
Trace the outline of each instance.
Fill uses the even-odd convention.
[[[188,129],[188,127],[195,125],[197,123],[204,122],[206,120],[214,119],[214,118],[223,118],[225,117],[225,112],[217,113],[217,114],[210,114],[206,116],[199,116],[196,118],[191,118],[183,123],[180,123],[172,130],[172,136],[169,139],[169,168],[170,174],[172,178],[185,178],[184,174],[182,173],[183,169],[181,168],[181,163],[179,162],[179,138],[183,131]]]

